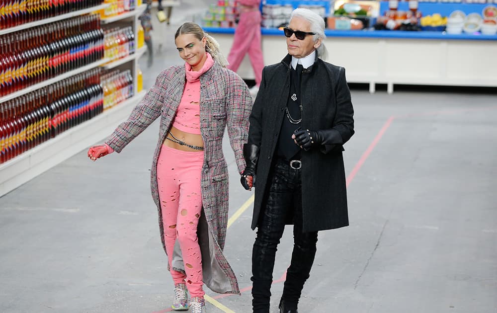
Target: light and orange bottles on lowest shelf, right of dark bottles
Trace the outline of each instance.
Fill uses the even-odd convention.
[[[103,109],[107,110],[134,95],[131,71],[111,71],[102,75]]]

